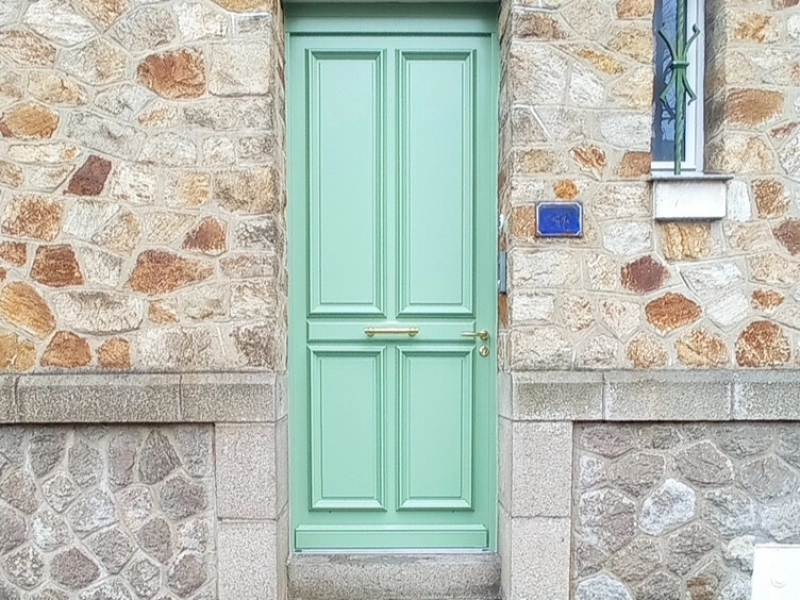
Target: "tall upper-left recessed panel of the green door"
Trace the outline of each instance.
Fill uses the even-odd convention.
[[[384,57],[315,51],[308,60],[312,314],[382,315]]]

